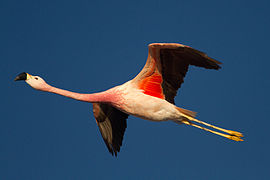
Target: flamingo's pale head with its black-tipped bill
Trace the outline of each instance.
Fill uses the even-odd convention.
[[[14,81],[20,81],[24,80],[27,84],[29,84],[32,88],[40,91],[47,91],[48,88],[50,88],[50,85],[48,85],[41,77],[39,76],[32,76],[28,73],[21,73],[16,78]]]

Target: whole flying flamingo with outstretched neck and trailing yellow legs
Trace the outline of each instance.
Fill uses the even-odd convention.
[[[92,103],[102,138],[109,152],[117,156],[129,115],[156,122],[173,121],[234,141],[243,141],[242,133],[195,119],[195,112],[177,107],[174,103],[189,65],[218,70],[220,64],[205,53],[186,45],[152,43],[148,45],[148,58],[141,72],[134,79],[104,92],[81,94],[59,89],[47,84],[41,77],[25,72],[14,80],[24,80],[36,90]]]

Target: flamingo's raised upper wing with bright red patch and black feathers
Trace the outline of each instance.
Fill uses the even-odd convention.
[[[173,104],[189,65],[217,70],[221,64],[205,53],[182,44],[153,43],[148,48],[146,64],[133,82],[145,94]]]

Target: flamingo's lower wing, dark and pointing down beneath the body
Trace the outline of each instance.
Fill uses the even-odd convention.
[[[128,114],[104,103],[93,103],[93,112],[109,152],[117,156],[127,127]]]

